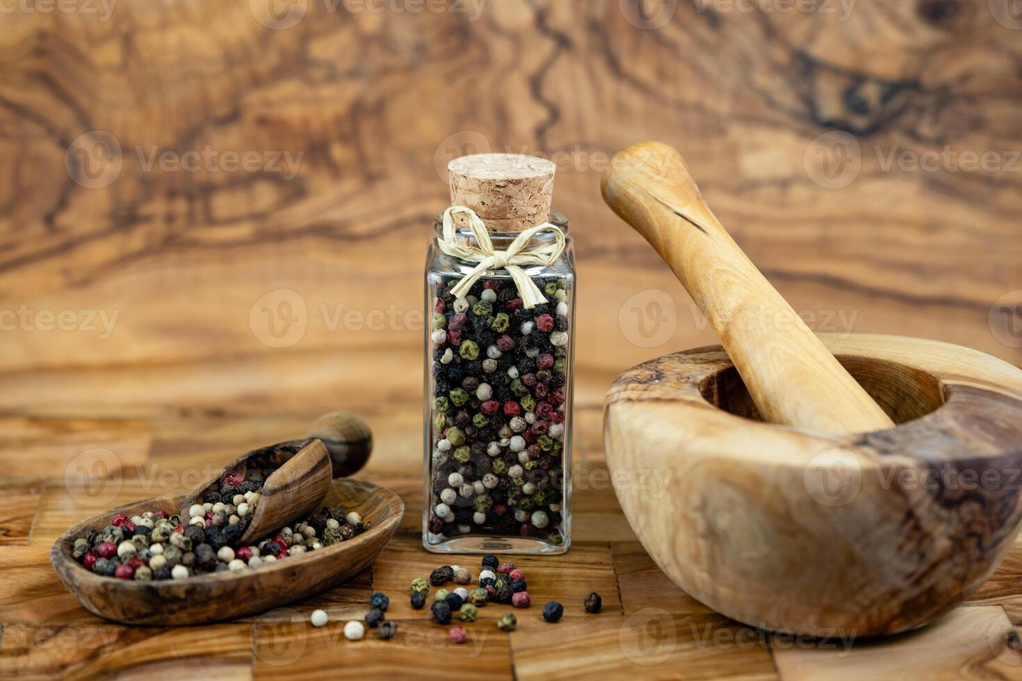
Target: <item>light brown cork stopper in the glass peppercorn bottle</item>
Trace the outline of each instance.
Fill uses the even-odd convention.
[[[491,232],[527,230],[550,220],[556,169],[545,158],[523,154],[455,158],[448,163],[451,205],[471,208]]]

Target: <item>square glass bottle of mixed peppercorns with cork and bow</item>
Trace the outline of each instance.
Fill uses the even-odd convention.
[[[563,553],[575,272],[555,165],[474,154],[448,169],[426,259],[423,545]]]

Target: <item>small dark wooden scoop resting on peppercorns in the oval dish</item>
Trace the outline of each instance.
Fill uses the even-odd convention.
[[[260,490],[259,502],[239,544],[250,544],[312,515],[323,503],[333,478],[351,475],[365,464],[372,449],[372,432],[359,417],[339,411],[320,417],[311,435],[316,437],[249,451],[225,467],[185,499],[182,521],[188,522],[192,504],[219,488],[224,473],[243,474],[249,464],[257,461],[276,461],[279,468],[267,477]]]

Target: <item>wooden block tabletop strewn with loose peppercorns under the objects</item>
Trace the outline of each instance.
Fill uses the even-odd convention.
[[[319,371],[314,359],[308,359],[309,369]],[[404,361],[412,368],[419,358],[409,353]],[[300,370],[292,363],[288,371]],[[601,445],[601,405],[612,378],[584,372],[576,378],[570,550],[563,555],[495,550],[496,569],[483,567],[483,553],[424,550],[422,454],[416,446],[421,402],[396,401],[396,391],[386,384],[352,388],[349,394],[363,400],[358,403],[338,391],[344,377],[332,376],[324,378],[321,392],[304,395],[307,401],[269,389],[258,407],[229,412],[169,406],[140,416],[135,405],[126,405],[120,415],[103,407],[93,419],[44,415],[33,420],[31,429],[18,420],[0,421],[0,471],[6,476],[0,481],[0,677],[799,679],[842,673],[869,679],[924,678],[931,670],[966,668],[993,677],[1019,676],[1022,659],[1013,623],[1022,622],[1022,545],[950,616],[922,632],[884,641],[764,634],[686,595],[638,543],[611,488]],[[336,403],[338,394],[341,403]],[[199,627],[106,622],[64,590],[49,550],[83,517],[185,491],[239,451],[300,432],[324,406],[365,415],[376,448],[358,477],[394,490],[407,504],[399,533],[370,570],[261,616]],[[89,407],[83,403],[78,414]],[[93,448],[114,456],[82,457]],[[95,466],[97,460],[105,461],[105,469]],[[97,473],[101,479],[76,477]],[[632,482],[649,485],[650,494],[662,493],[658,485],[664,483],[655,476]],[[741,519],[735,523],[740,527]],[[506,574],[508,588],[514,579],[527,583],[523,591],[512,588],[511,598],[527,592],[528,605],[489,599],[480,605],[482,596],[475,591],[485,591],[490,579],[496,586],[506,563],[514,564]],[[445,581],[430,584],[444,566],[452,568],[451,574],[437,575],[433,581]],[[520,574],[512,576],[513,571]],[[416,579],[422,580],[423,591],[418,607],[411,594]],[[431,612],[436,592],[447,589],[451,596],[458,588],[468,594],[467,599],[458,596],[461,611],[452,612],[450,624],[437,624]],[[560,607],[548,606],[551,602]],[[367,624],[371,610],[378,614]]]

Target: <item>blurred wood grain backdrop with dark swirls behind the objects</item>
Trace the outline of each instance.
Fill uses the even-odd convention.
[[[1022,31],[986,2],[860,0],[845,17],[837,2],[781,13],[663,0],[640,14],[632,0],[292,0],[277,26],[288,8],[300,20],[278,30],[258,20],[273,23],[268,6],[120,0],[103,20],[93,0],[0,17],[0,310],[43,313],[4,318],[0,409],[72,408],[85,392],[84,410],[144,411],[197,367],[301,402],[303,379],[270,364],[315,355],[316,380],[368,374],[367,356],[414,367],[423,253],[447,193],[437,168],[487,147],[560,166],[582,373],[609,381],[707,342],[667,269],[599,198],[606,158],[644,138],[683,151],[724,224],[816,326],[853,320],[1022,361],[988,325],[991,304],[1022,287],[1022,161],[1011,160]],[[835,130],[862,149],[839,188],[805,160]],[[120,144],[120,174],[88,188],[73,176],[97,182],[92,154],[109,138],[95,131]],[[1004,167],[884,168],[892,150],[945,145],[996,152]],[[288,180],[226,160],[146,169],[153,149],[301,158]],[[271,319],[278,331],[303,319],[277,301],[252,312],[280,289],[305,303],[306,330],[270,347]],[[658,328],[650,302],[663,296],[676,311],[661,306]],[[73,330],[44,331],[47,310],[117,318],[110,334],[81,313],[65,318]],[[379,324],[387,310],[397,321]],[[106,370],[159,389],[119,394]],[[419,372],[388,384],[415,397]],[[216,390],[197,399],[230,406]]]

